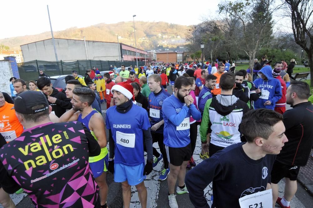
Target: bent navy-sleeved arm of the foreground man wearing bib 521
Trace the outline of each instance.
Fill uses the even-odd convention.
[[[186,174],[185,184],[191,203],[197,208],[209,208],[204,189],[214,180],[223,179],[223,169],[216,157],[203,160]]]

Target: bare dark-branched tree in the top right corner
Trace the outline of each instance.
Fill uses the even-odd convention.
[[[311,87],[313,87],[313,1],[285,0],[290,13],[292,31],[296,44],[308,55],[311,72]]]

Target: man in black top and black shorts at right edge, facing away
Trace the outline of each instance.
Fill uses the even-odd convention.
[[[277,155],[271,172],[273,207],[290,208],[289,203],[297,191],[300,167],[306,165],[313,146],[313,105],[308,102],[310,86],[302,81],[291,81],[287,88],[287,104],[292,109],[283,114],[288,142]],[[278,197],[278,182],[285,178],[285,192]],[[278,198],[278,199],[277,199]]]

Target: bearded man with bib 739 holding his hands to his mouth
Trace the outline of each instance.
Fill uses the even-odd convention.
[[[176,193],[188,193],[184,181],[186,166],[192,156],[189,118],[190,116],[195,120],[201,118],[201,113],[193,104],[192,96],[189,95],[192,84],[187,77],[178,77],[174,84],[174,94],[166,98],[162,105],[164,119],[163,143],[170,167],[167,184],[168,200],[171,208],[178,207],[174,192],[177,178]]]

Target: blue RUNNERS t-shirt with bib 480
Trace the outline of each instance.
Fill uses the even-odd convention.
[[[113,106],[106,111],[105,123],[115,143],[114,163],[127,166],[144,163],[142,130],[151,127],[147,111],[133,104],[128,112],[120,113]]]

